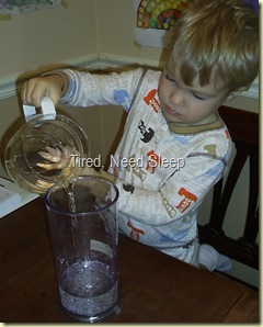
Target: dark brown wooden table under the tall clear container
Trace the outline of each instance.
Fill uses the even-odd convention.
[[[119,236],[122,311],[105,323],[258,323],[259,293]],[[58,306],[45,204],[0,219],[0,322],[73,323]]]

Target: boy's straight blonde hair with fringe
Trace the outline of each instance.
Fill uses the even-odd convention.
[[[198,0],[174,26],[170,64],[191,86],[249,88],[259,72],[259,14],[242,0]]]

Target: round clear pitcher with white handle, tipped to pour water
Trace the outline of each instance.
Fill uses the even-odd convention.
[[[44,97],[42,113],[33,106],[24,106],[26,124],[9,140],[4,165],[11,179],[22,189],[45,194],[52,184],[78,174],[79,167],[68,160],[59,169],[45,169],[47,149],[67,150],[68,158],[90,156],[89,139],[83,129],[71,119],[56,113],[53,101]]]

